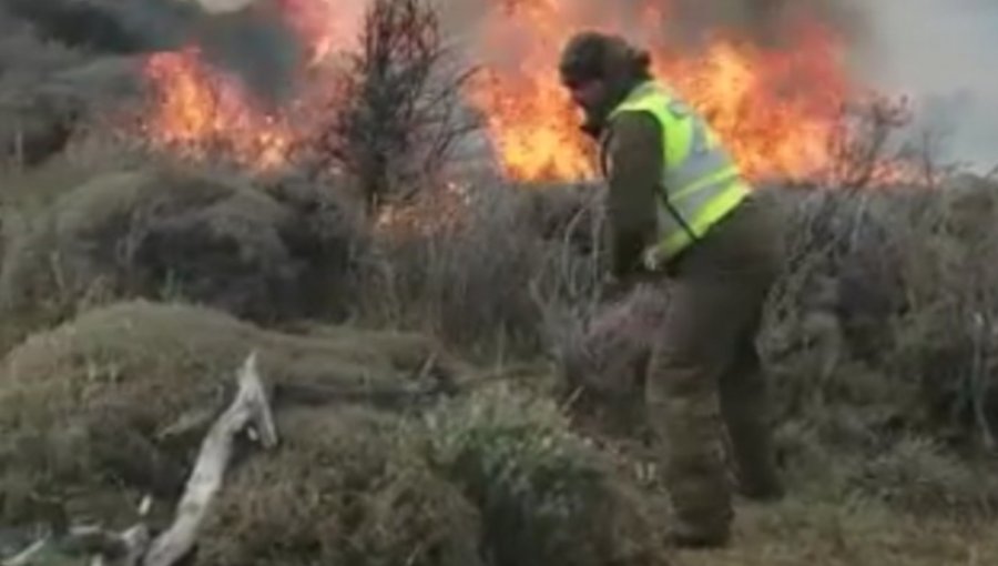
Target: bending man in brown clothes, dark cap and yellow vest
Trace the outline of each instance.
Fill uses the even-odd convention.
[[[646,52],[587,31],[566,46],[560,72],[601,145],[611,279],[670,283],[645,385],[665,444],[670,539],[721,546],[734,515],[722,418],[742,493],[782,495],[754,343],[781,239],[716,134],[649,67]]]

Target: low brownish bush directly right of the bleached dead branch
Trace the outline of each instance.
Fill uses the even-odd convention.
[[[284,443],[233,475],[197,564],[476,566],[479,516],[400,423],[349,408],[278,417]]]

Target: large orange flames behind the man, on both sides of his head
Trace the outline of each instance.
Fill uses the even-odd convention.
[[[660,2],[661,4],[661,2]],[[645,36],[666,12],[645,7]],[[495,18],[490,52],[501,44],[529,46],[515,65],[490,69],[470,100],[486,111],[508,174],[530,180],[590,178],[592,144],[577,131],[579,119],[558,83],[557,57],[581,28],[622,32],[607,13],[585,14],[572,2],[521,0],[515,14]],[[599,18],[599,19],[597,19]],[[639,24],[640,26],[640,24]],[[801,178],[831,160],[829,138],[848,95],[839,46],[816,22],[800,22],[792,44],[765,50],[733,34],[716,33],[697,53],[653,48],[653,73],[707,117],[750,176]],[[628,33],[624,33],[628,36]]]

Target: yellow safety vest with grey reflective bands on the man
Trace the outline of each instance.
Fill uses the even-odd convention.
[[[706,121],[655,82],[635,88],[610,118],[622,112],[649,112],[662,129],[659,235],[643,256],[648,269],[658,270],[734,210],[751,188]]]

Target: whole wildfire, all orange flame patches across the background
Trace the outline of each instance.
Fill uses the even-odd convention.
[[[356,38],[367,1],[279,4],[310,47],[310,64],[318,64]],[[595,174],[594,144],[579,131],[579,115],[558,82],[559,51],[583,28],[660,38],[669,17],[666,0],[645,0],[637,22],[614,16],[615,2],[600,9],[583,9],[583,3],[505,0],[486,16],[472,53],[485,55],[485,72],[464,95],[485,115],[498,161],[510,178]],[[853,93],[835,34],[814,21],[796,22],[793,30],[790,46],[778,49],[724,30],[695,51],[644,42],[653,51],[655,75],[707,117],[754,179],[801,179],[827,170],[838,112]],[[151,58],[147,75],[159,92],[149,137],[161,145],[193,154],[221,146],[243,164],[268,169],[286,162],[296,140],[307,138],[308,120],[293,127],[296,122],[285,112],[263,112],[233,81],[206,69],[195,49]],[[298,101],[296,109],[302,104],[307,102]]]

